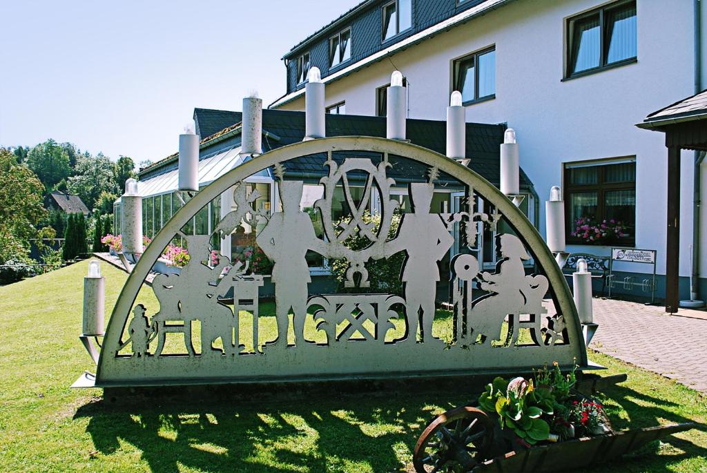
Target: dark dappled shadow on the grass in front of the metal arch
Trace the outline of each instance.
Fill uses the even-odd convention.
[[[691,421],[677,412],[677,404],[628,387],[612,387],[605,394],[617,430],[629,428],[629,421],[617,417],[616,404],[626,411],[631,428]],[[87,430],[98,451],[111,455],[129,443],[155,472],[180,467],[210,472],[392,472],[411,461],[417,437],[435,414],[471,400],[450,392],[332,392],[329,397],[270,397],[261,402],[257,396],[161,405],[99,401],[78,409],[76,417],[89,418]],[[677,462],[707,457],[706,432],[702,425],[686,434],[693,439],[698,433],[701,445],[670,436],[588,471],[667,471]]]

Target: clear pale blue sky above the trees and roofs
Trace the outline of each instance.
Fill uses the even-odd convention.
[[[194,107],[282,95],[283,54],[358,2],[2,1],[0,146],[164,158]]]

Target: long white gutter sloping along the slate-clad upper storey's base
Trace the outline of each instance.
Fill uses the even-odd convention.
[[[329,83],[329,82],[337,81],[340,78],[348,76],[349,74],[351,74],[354,71],[358,71],[358,69],[362,69],[363,67],[369,66],[370,64],[373,64],[374,62],[378,62],[381,59],[385,59],[388,56],[392,56],[393,54],[396,54],[397,52],[402,51],[402,49],[406,49],[407,47],[414,45],[417,42],[421,42],[423,40],[428,39],[429,37],[431,37],[433,35],[436,35],[438,33],[442,33],[445,30],[449,30],[450,28],[455,27],[455,26],[459,25],[460,23],[464,23],[466,21],[469,21],[476,16],[484,15],[485,13],[488,13],[489,11],[498,8],[502,4],[508,3],[508,1],[510,1],[510,0],[487,0],[487,1],[484,1],[484,3],[482,3],[482,4],[479,4],[477,6],[469,8],[468,10],[462,11],[462,13],[459,13],[458,15],[452,16],[451,18],[448,18],[445,21],[437,23],[436,25],[433,25],[430,28],[427,28],[426,30],[422,30],[419,33],[415,33],[414,35],[405,38],[401,42],[395,43],[395,45],[391,45],[385,49],[381,49],[380,51],[378,51],[374,54],[371,54],[370,56],[368,56],[364,59],[361,59],[361,61],[359,61],[359,62],[351,64],[350,66],[345,67],[344,69],[341,69],[340,71],[334,72],[334,74],[330,74],[329,76],[322,78],[322,82]],[[304,93],[305,93],[304,88],[300,88],[300,90],[295,90],[294,92],[288,93],[287,95],[284,95],[281,98],[275,100],[273,103],[268,105],[268,108],[277,108],[281,105],[285,105],[286,103],[291,102],[292,100],[295,100],[296,98],[300,97],[301,95],[304,95]]]

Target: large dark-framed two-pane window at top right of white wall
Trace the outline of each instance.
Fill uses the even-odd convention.
[[[633,62],[637,56],[636,1],[597,8],[567,22],[566,77]]]

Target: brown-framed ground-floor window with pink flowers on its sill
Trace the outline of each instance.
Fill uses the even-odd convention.
[[[565,215],[570,243],[633,245],[636,161],[565,165]]]

